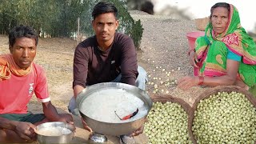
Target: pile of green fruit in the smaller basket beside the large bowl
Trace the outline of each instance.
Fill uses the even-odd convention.
[[[151,144],[192,143],[188,134],[188,114],[174,102],[154,102],[145,123]]]

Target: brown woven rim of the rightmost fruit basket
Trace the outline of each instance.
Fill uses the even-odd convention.
[[[230,93],[232,91],[236,91],[238,93],[245,94],[246,98],[256,107],[256,98],[252,94],[250,94],[249,91],[243,90],[238,86],[216,86],[213,89],[207,90],[205,93],[201,94],[198,96],[198,98],[195,99],[194,105],[191,107],[190,114],[189,114],[189,120],[188,120],[188,130],[190,134],[190,138],[194,144],[197,143],[193,131],[192,131],[192,126],[193,126],[193,121],[194,121],[194,111],[196,110],[198,103],[202,99],[209,98],[210,95],[212,94],[218,94],[218,92],[227,92]],[[255,142],[256,144],[256,142]]]

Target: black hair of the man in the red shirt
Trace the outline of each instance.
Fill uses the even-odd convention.
[[[34,38],[35,45],[38,46],[38,34],[30,26],[15,26],[10,30],[9,34],[9,45],[14,46],[16,38]]]

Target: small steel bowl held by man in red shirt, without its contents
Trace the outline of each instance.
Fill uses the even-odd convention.
[[[70,134],[62,134],[60,136],[49,136],[49,135],[42,135],[40,134],[40,130],[43,128],[48,128],[48,127],[65,127],[69,130],[71,130]],[[75,127],[73,125],[70,125],[65,122],[46,122],[42,123],[37,126],[36,128],[36,133],[37,133],[37,141],[38,143],[69,143],[73,138],[74,138],[74,131]]]

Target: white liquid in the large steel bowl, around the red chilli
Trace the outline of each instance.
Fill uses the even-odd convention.
[[[126,115],[138,114],[127,120],[120,120]],[[120,118],[114,113],[118,114]],[[81,106],[82,114],[100,122],[122,123],[142,118],[148,112],[144,102],[123,89],[108,88],[90,94]]]

